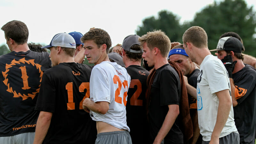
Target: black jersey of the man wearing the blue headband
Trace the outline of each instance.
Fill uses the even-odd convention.
[[[196,88],[197,85],[197,75],[199,74],[199,69],[195,69],[190,75],[188,75],[188,84]],[[194,99],[190,94],[188,94],[189,108],[197,109],[196,99]]]

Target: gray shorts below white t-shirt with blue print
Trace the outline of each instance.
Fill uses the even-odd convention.
[[[231,132],[230,134],[226,135],[225,137],[222,137],[219,139],[220,144],[239,144],[240,142],[240,137],[239,133],[236,132]],[[210,141],[202,141],[202,144],[209,144]]]

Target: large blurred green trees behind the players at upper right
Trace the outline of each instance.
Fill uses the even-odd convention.
[[[253,6],[248,7],[244,0],[225,0],[214,2],[196,12],[192,21],[180,24],[176,14],[163,10],[154,16],[145,18],[138,26],[136,34],[142,36],[148,31],[161,29],[171,42],[182,43],[184,32],[191,26],[204,28],[208,36],[208,48],[216,49],[219,37],[225,32],[233,31],[243,39],[246,54],[256,56],[256,12]]]

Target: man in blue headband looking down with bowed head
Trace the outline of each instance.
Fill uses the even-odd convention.
[[[188,57],[185,52],[183,44],[176,45],[169,52],[169,59],[174,61],[182,70],[188,91],[189,114],[193,122],[193,137],[191,143],[202,143],[202,136],[200,136],[200,129],[198,126],[197,114],[197,98],[196,98],[196,85],[197,75],[199,69],[194,62]],[[192,87],[192,90],[190,90]],[[200,137],[199,137],[200,136]]]

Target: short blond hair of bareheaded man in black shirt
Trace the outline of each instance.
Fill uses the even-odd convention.
[[[163,57],[167,57],[171,49],[171,41],[169,37],[161,30],[147,32],[146,35],[139,38],[139,41],[140,45],[143,45],[146,42],[150,50],[154,47],[158,48]]]

